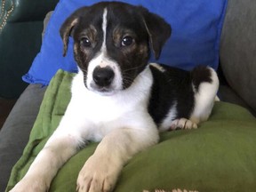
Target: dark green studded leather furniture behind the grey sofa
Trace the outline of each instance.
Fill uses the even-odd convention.
[[[0,97],[18,99],[28,86],[21,76],[40,51],[44,16],[58,1],[0,1]]]

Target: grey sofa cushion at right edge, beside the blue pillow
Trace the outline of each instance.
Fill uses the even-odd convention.
[[[232,0],[221,36],[220,60],[228,84],[256,111],[256,1]],[[246,12],[246,13],[244,13]]]

